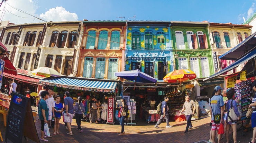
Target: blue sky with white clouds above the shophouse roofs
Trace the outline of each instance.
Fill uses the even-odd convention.
[[[243,17],[247,20],[255,11],[256,0],[7,0],[0,7],[0,20],[15,24],[84,19],[241,24]]]

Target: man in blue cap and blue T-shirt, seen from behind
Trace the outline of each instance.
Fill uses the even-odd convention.
[[[212,123],[212,141],[215,143],[216,130],[219,131],[220,124],[224,125],[224,101],[221,96],[222,88],[216,86],[213,90],[214,96],[210,99],[210,112],[211,112],[211,123]],[[214,123],[214,115],[220,114],[220,123]],[[218,134],[218,143],[221,140],[222,135]]]

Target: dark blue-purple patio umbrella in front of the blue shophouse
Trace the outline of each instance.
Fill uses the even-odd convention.
[[[140,72],[140,70],[135,69],[135,70],[128,70],[128,71],[123,71],[123,72],[116,72],[115,76],[124,78],[127,80],[135,81],[136,82],[141,82],[141,83],[156,83],[156,79],[143,73]],[[134,84],[134,89],[135,89],[135,84]]]

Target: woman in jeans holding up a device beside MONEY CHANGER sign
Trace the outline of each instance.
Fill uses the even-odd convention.
[[[121,124],[121,132],[118,135],[123,135],[125,133],[124,120],[126,117],[126,109],[128,107],[125,99],[121,99],[121,101],[122,101],[122,105],[120,107],[117,107],[117,103],[116,103],[116,110],[118,110],[118,117]]]

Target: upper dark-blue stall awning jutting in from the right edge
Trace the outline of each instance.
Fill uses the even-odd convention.
[[[244,57],[250,53],[256,47],[256,32],[250,35],[247,39],[242,41],[240,44],[226,52],[225,54],[219,56],[219,59],[233,60]]]

